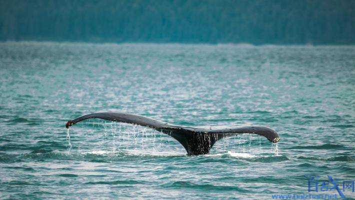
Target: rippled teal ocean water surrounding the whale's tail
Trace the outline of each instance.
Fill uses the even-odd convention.
[[[0,199],[340,198],[328,175],[341,191],[355,179],[354,46],[4,42],[0,69]],[[96,111],[266,125],[280,141],[242,134],[187,156],[131,124],[90,119],[67,135]],[[308,192],[312,176],[323,187]]]

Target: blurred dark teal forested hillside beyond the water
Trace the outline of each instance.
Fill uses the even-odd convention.
[[[355,43],[355,0],[0,0],[0,40]]]

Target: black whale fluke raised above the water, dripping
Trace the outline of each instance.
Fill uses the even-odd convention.
[[[277,132],[265,126],[230,126],[224,129],[205,129],[197,127],[189,127],[182,125],[174,125],[153,118],[130,114],[125,112],[97,112],[86,114],[66,122],[65,127],[88,118],[100,118],[110,121],[123,123],[132,123],[142,126],[151,127],[155,130],[166,133],[175,138],[186,149],[188,155],[207,154],[213,144],[227,136],[233,136],[241,133],[253,133],[266,137],[270,142],[278,142],[280,137]]]

